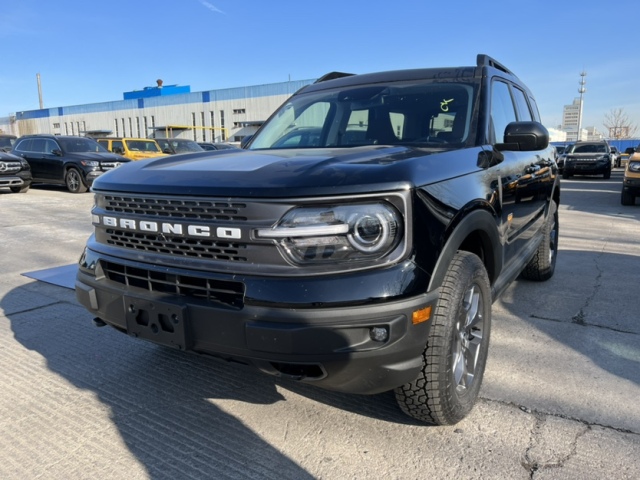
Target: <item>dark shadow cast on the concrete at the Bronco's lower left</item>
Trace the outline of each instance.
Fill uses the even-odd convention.
[[[55,294],[50,289],[60,288],[33,285],[46,289],[49,296]],[[143,466],[145,478],[313,478],[241,418],[220,407],[242,402],[260,408],[285,401],[273,378],[249,367],[135,340],[110,328],[98,329],[87,312],[68,298],[40,308],[33,304],[18,308],[24,298],[24,287],[20,287],[0,300],[15,340],[41,355],[51,372],[73,386],[69,389],[62,382],[59,387],[67,390],[67,400],[79,391],[89,391],[108,408],[110,421]],[[65,423],[77,423],[83,430],[77,432],[80,437],[92,428],[88,419],[66,419]],[[100,447],[106,456],[121,448],[108,442]],[[92,453],[96,454],[86,452]],[[94,466],[108,462],[100,452],[83,461]],[[126,460],[119,462],[126,465]]]

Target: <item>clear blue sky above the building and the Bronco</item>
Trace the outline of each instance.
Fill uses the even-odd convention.
[[[330,71],[473,65],[496,58],[533,91],[547,127],[578,94],[583,126],[623,108],[640,125],[637,0],[19,0],[0,17],[0,116],[317,78]],[[640,127],[639,127],[640,128]]]

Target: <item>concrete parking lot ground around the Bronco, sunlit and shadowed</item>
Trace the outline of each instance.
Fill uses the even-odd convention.
[[[481,399],[450,427],[94,327],[25,276],[77,261],[92,196],[0,190],[0,478],[640,478],[640,206],[620,172],[562,182],[556,275],[494,304]]]

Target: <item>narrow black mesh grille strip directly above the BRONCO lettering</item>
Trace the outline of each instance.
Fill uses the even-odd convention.
[[[115,195],[104,195],[101,201],[106,211],[114,213],[196,220],[247,220],[242,213],[247,207],[244,203]]]

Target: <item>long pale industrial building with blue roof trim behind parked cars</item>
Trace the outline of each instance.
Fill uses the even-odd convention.
[[[122,100],[16,112],[0,118],[0,132],[116,137],[182,137],[240,142],[287,98],[313,80],[191,92],[163,85],[124,92]]]

